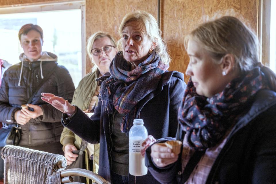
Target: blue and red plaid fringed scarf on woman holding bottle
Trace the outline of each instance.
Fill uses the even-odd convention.
[[[111,76],[103,81],[99,99],[108,114],[113,114],[114,110],[124,114],[121,132],[128,132],[137,113],[137,103],[156,89],[168,68],[154,51],[136,68],[124,59],[122,52],[116,54],[109,67]]]

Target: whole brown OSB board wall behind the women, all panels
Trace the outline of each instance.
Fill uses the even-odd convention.
[[[51,0],[48,0],[51,1]],[[57,1],[57,0],[52,0]],[[0,5],[36,3],[43,0],[0,0]],[[157,18],[157,0],[86,0],[86,38],[98,30],[106,31],[118,39],[118,27],[125,14],[136,9],[151,13]],[[233,9],[244,17],[257,32],[258,0],[161,0],[161,30],[167,42],[172,62],[169,70],[185,72],[189,59],[185,54],[184,36],[205,17],[218,11]],[[92,64],[87,57],[86,71]],[[188,77],[185,76],[187,81]]]

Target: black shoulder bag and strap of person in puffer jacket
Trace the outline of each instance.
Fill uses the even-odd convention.
[[[34,95],[41,88],[41,86],[45,83],[45,81],[47,81],[49,79],[49,77],[53,74],[53,72],[55,71],[56,68],[57,68],[57,65],[41,81],[41,83],[39,84],[37,89],[32,93],[32,96],[30,96],[27,104],[30,104],[32,102]],[[18,126],[18,124],[3,123],[2,129],[0,129],[0,147],[4,147],[7,144],[17,146],[20,142],[21,134],[22,134],[22,130],[21,130],[21,127]]]

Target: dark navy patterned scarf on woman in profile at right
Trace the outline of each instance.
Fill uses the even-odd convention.
[[[252,98],[260,89],[269,87],[259,66],[210,98],[198,95],[190,79],[178,112],[190,147],[205,150],[221,141],[227,129],[249,110]]]

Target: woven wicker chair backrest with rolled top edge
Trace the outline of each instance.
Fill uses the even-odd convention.
[[[4,184],[45,184],[53,173],[66,168],[62,155],[6,145],[1,150],[5,163]]]

